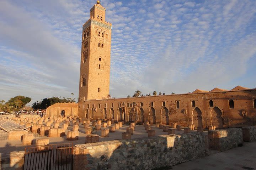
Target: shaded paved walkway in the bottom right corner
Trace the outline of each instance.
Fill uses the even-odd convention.
[[[256,170],[256,142],[242,147],[194,159],[172,167],[172,170]]]

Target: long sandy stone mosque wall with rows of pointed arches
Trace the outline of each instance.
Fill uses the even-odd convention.
[[[255,125],[255,100],[255,89],[88,100],[79,102],[78,116],[124,121],[126,124],[149,121],[150,124],[159,126],[178,124],[195,130],[197,127],[205,129],[214,126],[215,129],[224,129]],[[195,101],[194,107],[192,101]],[[211,101],[213,105],[210,105]]]

